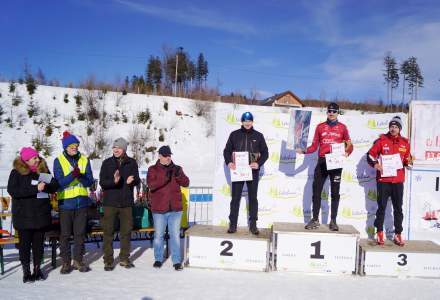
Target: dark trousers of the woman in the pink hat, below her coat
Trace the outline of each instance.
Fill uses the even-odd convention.
[[[31,249],[34,266],[39,266],[44,254],[44,230],[43,229],[20,229],[18,252],[23,266],[31,263]]]

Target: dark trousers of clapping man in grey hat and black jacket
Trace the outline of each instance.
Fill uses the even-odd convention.
[[[132,207],[110,207],[104,206],[102,227],[104,229],[104,262],[113,263],[113,235],[115,232],[115,220],[119,218],[119,240],[121,241],[121,252],[119,259],[128,261],[131,248],[131,231],[133,229]]]

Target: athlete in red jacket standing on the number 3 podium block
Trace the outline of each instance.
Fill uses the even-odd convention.
[[[384,244],[383,222],[388,198],[391,197],[394,215],[394,243],[403,246],[402,238],[403,222],[403,183],[405,181],[405,169],[396,170],[396,176],[383,177],[381,156],[399,154],[402,166],[411,164],[410,145],[408,140],[400,135],[402,120],[397,116],[389,123],[389,132],[382,134],[368,151],[367,161],[377,170],[377,211],[374,226],[377,228],[377,243]]]

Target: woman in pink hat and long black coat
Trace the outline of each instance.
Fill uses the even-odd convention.
[[[58,183],[44,173],[49,174],[46,161],[38,156],[35,149],[25,147],[21,149],[20,156],[14,160],[8,180],[8,193],[12,197],[12,223],[19,232],[18,245],[23,267],[23,282],[46,279],[40,265],[44,254],[44,232],[51,224],[48,193],[55,193]],[[33,274],[30,271],[31,249]]]

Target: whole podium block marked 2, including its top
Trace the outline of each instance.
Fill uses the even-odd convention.
[[[269,271],[270,230],[258,236],[247,227],[229,234],[227,228],[194,225],[185,232],[185,265],[198,268]]]

